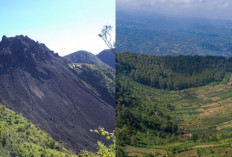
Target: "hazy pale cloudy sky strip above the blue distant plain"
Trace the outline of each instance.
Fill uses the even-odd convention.
[[[117,10],[232,20],[232,0],[117,0]]]

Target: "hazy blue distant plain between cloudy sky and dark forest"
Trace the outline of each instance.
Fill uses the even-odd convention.
[[[232,56],[232,22],[117,12],[117,51]]]

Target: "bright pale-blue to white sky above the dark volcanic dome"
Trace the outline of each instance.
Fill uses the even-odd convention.
[[[97,35],[112,25],[115,0],[0,0],[0,36],[27,35],[64,56],[107,49]]]

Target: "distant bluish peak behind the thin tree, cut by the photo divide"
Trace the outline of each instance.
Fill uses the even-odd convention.
[[[103,50],[97,56],[102,62],[115,69],[115,54],[111,49]]]

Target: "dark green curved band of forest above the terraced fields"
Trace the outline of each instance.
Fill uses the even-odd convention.
[[[159,89],[178,90],[221,81],[232,71],[232,59],[213,56],[118,54],[118,73]]]

